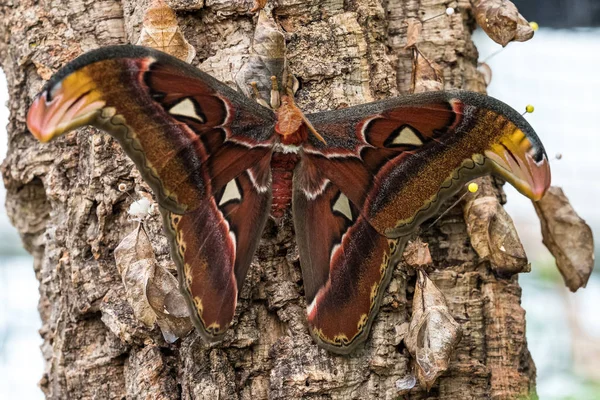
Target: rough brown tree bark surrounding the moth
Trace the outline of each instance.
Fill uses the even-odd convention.
[[[172,0],[196,48],[193,61],[232,84],[248,55],[253,1]],[[0,65],[11,101],[3,165],[7,210],[35,257],[47,362],[41,388],[52,399],[393,399],[411,373],[401,343],[415,276],[400,266],[366,345],[349,357],[318,348],[306,326],[298,256],[289,219],[270,223],[240,294],[226,339],[207,346],[195,334],[168,345],[135,320],[113,251],[134,229],[130,193],[148,191],[108,135],[87,128],[40,145],[25,115],[51,72],[96,47],[135,43],[147,1],[4,0]],[[425,20],[419,48],[443,67],[446,86],[483,90],[469,1],[321,0],[274,2],[286,30],[292,71],[306,111],[335,109],[406,92],[411,52],[407,18]],[[43,79],[42,79],[43,78]],[[157,215],[147,223],[158,262],[173,268]],[[422,232],[430,278],[446,295],[463,338],[429,393],[410,399],[513,399],[535,393],[517,278],[499,279],[469,246],[456,208]]]

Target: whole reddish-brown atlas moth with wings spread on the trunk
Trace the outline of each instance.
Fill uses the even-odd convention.
[[[64,66],[27,117],[42,142],[83,125],[119,141],[154,192],[207,341],[231,324],[270,217],[292,215],[312,337],[348,354],[366,340],[408,239],[444,200],[489,173],[532,200],[550,185],[533,128],[496,99],[440,91],[305,115],[285,52],[260,49],[243,82],[255,79],[270,103],[125,45]]]

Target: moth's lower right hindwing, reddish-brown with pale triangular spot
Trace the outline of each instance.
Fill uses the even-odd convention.
[[[307,163],[294,176],[293,214],[308,324],[321,346],[346,354],[368,335],[397,240],[380,235]]]

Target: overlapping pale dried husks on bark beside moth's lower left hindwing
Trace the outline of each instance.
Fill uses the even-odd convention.
[[[185,299],[177,280],[156,262],[152,244],[140,224],[115,249],[127,302],[146,327],[156,322],[169,343],[192,330]]]

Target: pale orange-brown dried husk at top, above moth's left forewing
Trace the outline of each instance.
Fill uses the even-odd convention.
[[[179,29],[175,12],[163,0],[154,0],[146,10],[137,44],[164,51],[188,63],[196,56],[196,49]]]

